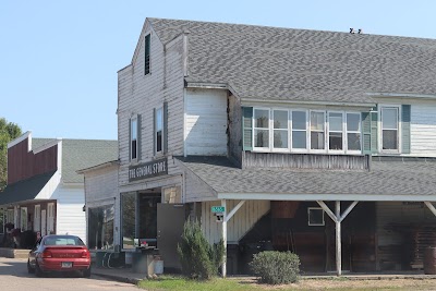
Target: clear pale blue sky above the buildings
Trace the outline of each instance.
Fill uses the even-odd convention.
[[[36,137],[116,140],[117,71],[147,16],[436,38],[435,14],[431,0],[4,0],[0,117]]]

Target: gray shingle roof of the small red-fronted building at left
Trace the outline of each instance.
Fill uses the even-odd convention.
[[[35,149],[50,142],[50,138],[33,138]],[[101,140],[62,140],[62,181],[82,183],[77,170],[90,168],[107,161],[118,160],[118,142]]]

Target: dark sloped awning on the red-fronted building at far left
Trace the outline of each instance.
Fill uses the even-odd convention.
[[[38,174],[8,185],[0,192],[0,205],[34,199],[56,171]]]

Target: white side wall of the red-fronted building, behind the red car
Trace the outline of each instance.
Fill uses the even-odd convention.
[[[85,194],[83,187],[60,186],[53,193],[57,199],[56,230],[58,234],[74,234],[86,244]]]

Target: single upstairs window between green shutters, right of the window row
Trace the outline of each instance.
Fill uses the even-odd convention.
[[[395,112],[395,122],[393,120],[389,120],[392,116],[391,112]],[[399,105],[382,105],[379,106],[378,111],[378,148],[380,154],[400,154],[401,153],[401,106]],[[385,133],[387,134],[385,136]],[[396,133],[393,135],[389,133]],[[393,137],[393,138],[392,138]],[[397,148],[384,148],[385,140],[395,140]]]

